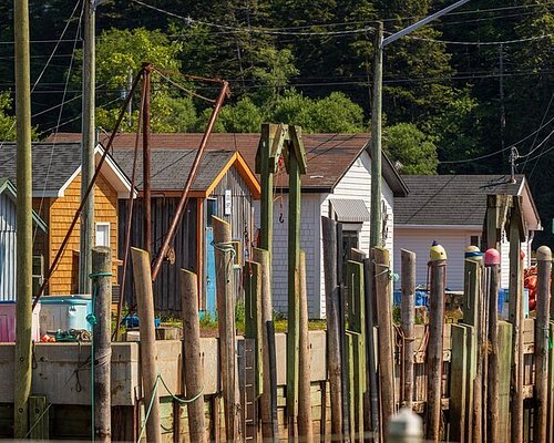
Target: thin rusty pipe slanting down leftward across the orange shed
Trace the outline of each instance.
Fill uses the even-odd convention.
[[[33,309],[37,306],[37,303],[39,302],[39,299],[41,298],[42,292],[44,292],[44,289],[47,288],[48,282],[50,281],[50,278],[52,277],[52,274],[54,272],[55,268],[58,267],[58,264],[60,262],[63,250],[68,246],[71,234],[73,233],[73,229],[75,228],[75,225],[79,222],[79,217],[81,216],[81,213],[83,210],[84,202],[86,202],[89,194],[94,188],[94,184],[96,183],[96,178],[100,175],[100,169],[102,168],[102,165],[104,164],[105,157],[107,157],[107,153],[110,152],[110,148],[112,147],[113,141],[115,138],[115,134],[117,134],[117,130],[120,128],[121,122],[123,121],[123,117],[125,116],[129,101],[131,101],[131,99],[133,97],[134,91],[136,89],[136,85],[138,84],[138,80],[141,79],[142,73],[143,72],[141,70],[141,72],[136,75],[136,78],[133,82],[133,86],[131,87],[131,91],[130,91],[127,97],[125,99],[125,103],[123,103],[123,106],[120,111],[120,115],[117,116],[117,121],[115,122],[115,126],[114,126],[112,134],[110,135],[110,140],[107,141],[107,144],[105,146],[104,154],[100,158],[100,162],[96,166],[96,171],[94,172],[94,175],[91,178],[91,183],[89,185],[89,188],[86,189],[86,192],[82,196],[81,204],[79,205],[79,208],[76,209],[75,215],[73,216],[73,220],[71,222],[70,228],[68,229],[68,233],[65,234],[65,237],[63,238],[63,241],[60,246],[60,249],[55,254],[54,260],[52,261],[52,265],[50,266],[50,268],[48,270],[48,274],[47,274],[47,277],[44,278],[44,281],[42,282],[41,287],[39,288],[39,291],[37,292],[37,296],[35,296],[34,301],[33,301]]]

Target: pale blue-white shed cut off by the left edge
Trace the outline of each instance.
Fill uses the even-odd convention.
[[[34,210],[32,220],[35,238],[43,237],[47,234],[47,224]],[[9,179],[0,178],[0,301],[17,299],[17,237],[16,186]]]

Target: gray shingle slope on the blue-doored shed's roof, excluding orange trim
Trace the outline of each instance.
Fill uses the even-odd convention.
[[[234,151],[205,151],[192,190],[206,190],[235,154]],[[152,150],[152,190],[181,190],[191,172],[196,151]],[[113,157],[127,177],[133,174],[134,152],[114,150]],[[136,159],[135,187],[142,189],[142,153]]]

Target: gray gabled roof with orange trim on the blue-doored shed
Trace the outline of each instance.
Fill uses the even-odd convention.
[[[133,174],[134,151],[115,150],[113,154],[121,168]],[[151,153],[151,187],[153,192],[181,192],[191,172],[196,151],[153,150]],[[235,151],[207,151],[202,156],[191,190],[197,196],[207,197],[230,166],[235,166],[250,188],[254,198],[259,198],[259,184]],[[143,188],[142,155],[136,158],[135,187]]]

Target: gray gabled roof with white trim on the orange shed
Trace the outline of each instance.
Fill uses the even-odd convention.
[[[0,144],[0,176],[16,183],[16,143]],[[103,154],[96,147],[96,163]],[[33,197],[62,197],[65,188],[81,172],[80,143],[33,143],[32,144]],[[120,194],[129,196],[131,183],[110,155],[102,165],[102,174]]]

